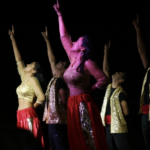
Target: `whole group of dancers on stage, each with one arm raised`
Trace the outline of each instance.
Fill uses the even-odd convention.
[[[111,81],[108,63],[110,42],[104,46],[102,71],[93,60],[92,45],[86,35],[76,42],[71,41],[58,0],[54,9],[58,15],[60,39],[69,61],[60,61],[56,64],[46,27],[42,35],[47,45],[53,77],[47,86],[45,96],[43,93],[45,91],[42,90],[44,78],[40,64],[32,62],[25,67],[14,37],[14,27],[9,30],[21,77],[21,84],[17,88],[19,99],[17,127],[30,130],[44,147],[42,127],[35,108],[45,100],[43,121],[48,124],[51,150],[129,150],[126,121],[129,110],[127,94],[121,86],[126,80],[126,74],[116,72],[112,75],[112,83],[109,84]],[[137,33],[138,51],[146,69],[140,113],[143,114],[142,131],[145,145],[150,149],[150,64],[141,38],[138,16],[137,20],[133,21],[133,25]],[[92,76],[96,79],[96,83],[90,86]],[[90,92],[105,88],[106,93],[99,113]]]

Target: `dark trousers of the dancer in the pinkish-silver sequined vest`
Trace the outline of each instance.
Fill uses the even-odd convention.
[[[51,150],[69,150],[66,124],[48,124],[48,135]]]

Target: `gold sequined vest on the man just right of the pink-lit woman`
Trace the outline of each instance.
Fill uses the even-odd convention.
[[[127,123],[122,113],[122,109],[119,102],[119,94],[124,92],[123,88],[119,86],[112,96],[110,97],[110,107],[111,107],[111,133],[126,133]],[[109,96],[111,93],[111,84],[107,87],[106,94],[104,97],[104,102],[101,110],[102,123],[105,126],[105,113],[108,104]]]

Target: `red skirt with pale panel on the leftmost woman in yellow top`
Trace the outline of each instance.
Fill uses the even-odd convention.
[[[17,111],[17,128],[31,131],[44,147],[41,123],[33,107]]]

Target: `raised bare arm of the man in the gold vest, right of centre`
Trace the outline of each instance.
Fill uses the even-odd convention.
[[[108,62],[109,49],[110,49],[110,41],[109,41],[109,44],[105,44],[105,46],[104,46],[104,60],[103,60],[103,72],[110,80],[109,62]]]

